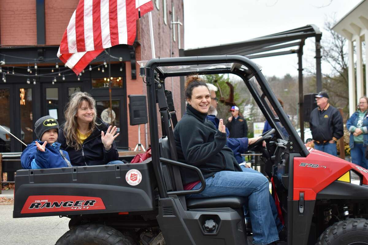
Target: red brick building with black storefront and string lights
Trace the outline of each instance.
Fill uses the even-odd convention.
[[[92,94],[97,102],[97,115],[101,117],[101,113],[109,107],[109,89],[105,81],[109,77],[109,68],[104,62],[109,63],[110,60],[115,112],[113,124],[120,129],[116,143],[121,149],[134,148],[138,143],[138,126],[128,123],[127,96],[146,94],[146,86],[137,74],[137,61],[152,58],[148,14],[141,19],[142,36],[137,21],[137,38],[133,46],[110,48],[110,55],[103,52],[81,76],[76,76],[64,67],[56,53],[78,1],[0,1],[0,76],[4,78],[0,80],[0,125],[28,144],[35,138],[33,125],[41,116],[57,115],[59,121],[63,121],[64,107],[75,91]],[[171,22],[184,23],[183,0],[153,0],[153,6],[156,57],[178,57],[179,49],[184,47],[184,26]],[[175,78],[173,82],[170,79],[166,89],[173,90],[180,116],[179,79]],[[106,121],[110,122],[109,119]],[[149,144],[149,132],[147,138]],[[141,125],[141,143],[146,146],[145,125]],[[0,152],[18,152],[22,149],[24,146],[21,143],[0,129]]]

